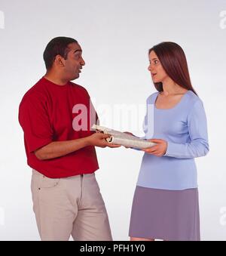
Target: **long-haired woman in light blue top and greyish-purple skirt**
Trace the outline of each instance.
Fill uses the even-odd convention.
[[[148,52],[157,92],[147,99],[153,112],[145,116],[144,150],[133,198],[130,239],[200,240],[195,157],[209,151],[203,103],[191,85],[182,48],[162,42]],[[154,115],[154,116],[151,116]],[[154,134],[148,133],[148,119]],[[149,119],[150,120],[150,119]]]

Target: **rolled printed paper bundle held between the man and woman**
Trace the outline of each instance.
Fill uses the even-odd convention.
[[[147,140],[140,139],[139,137],[125,134],[121,131],[115,131],[103,126],[93,125],[92,128],[97,131],[102,131],[104,134],[110,134],[111,137],[106,139],[108,143],[122,145],[124,147],[133,147],[140,150],[156,145],[156,143],[149,142]]]

